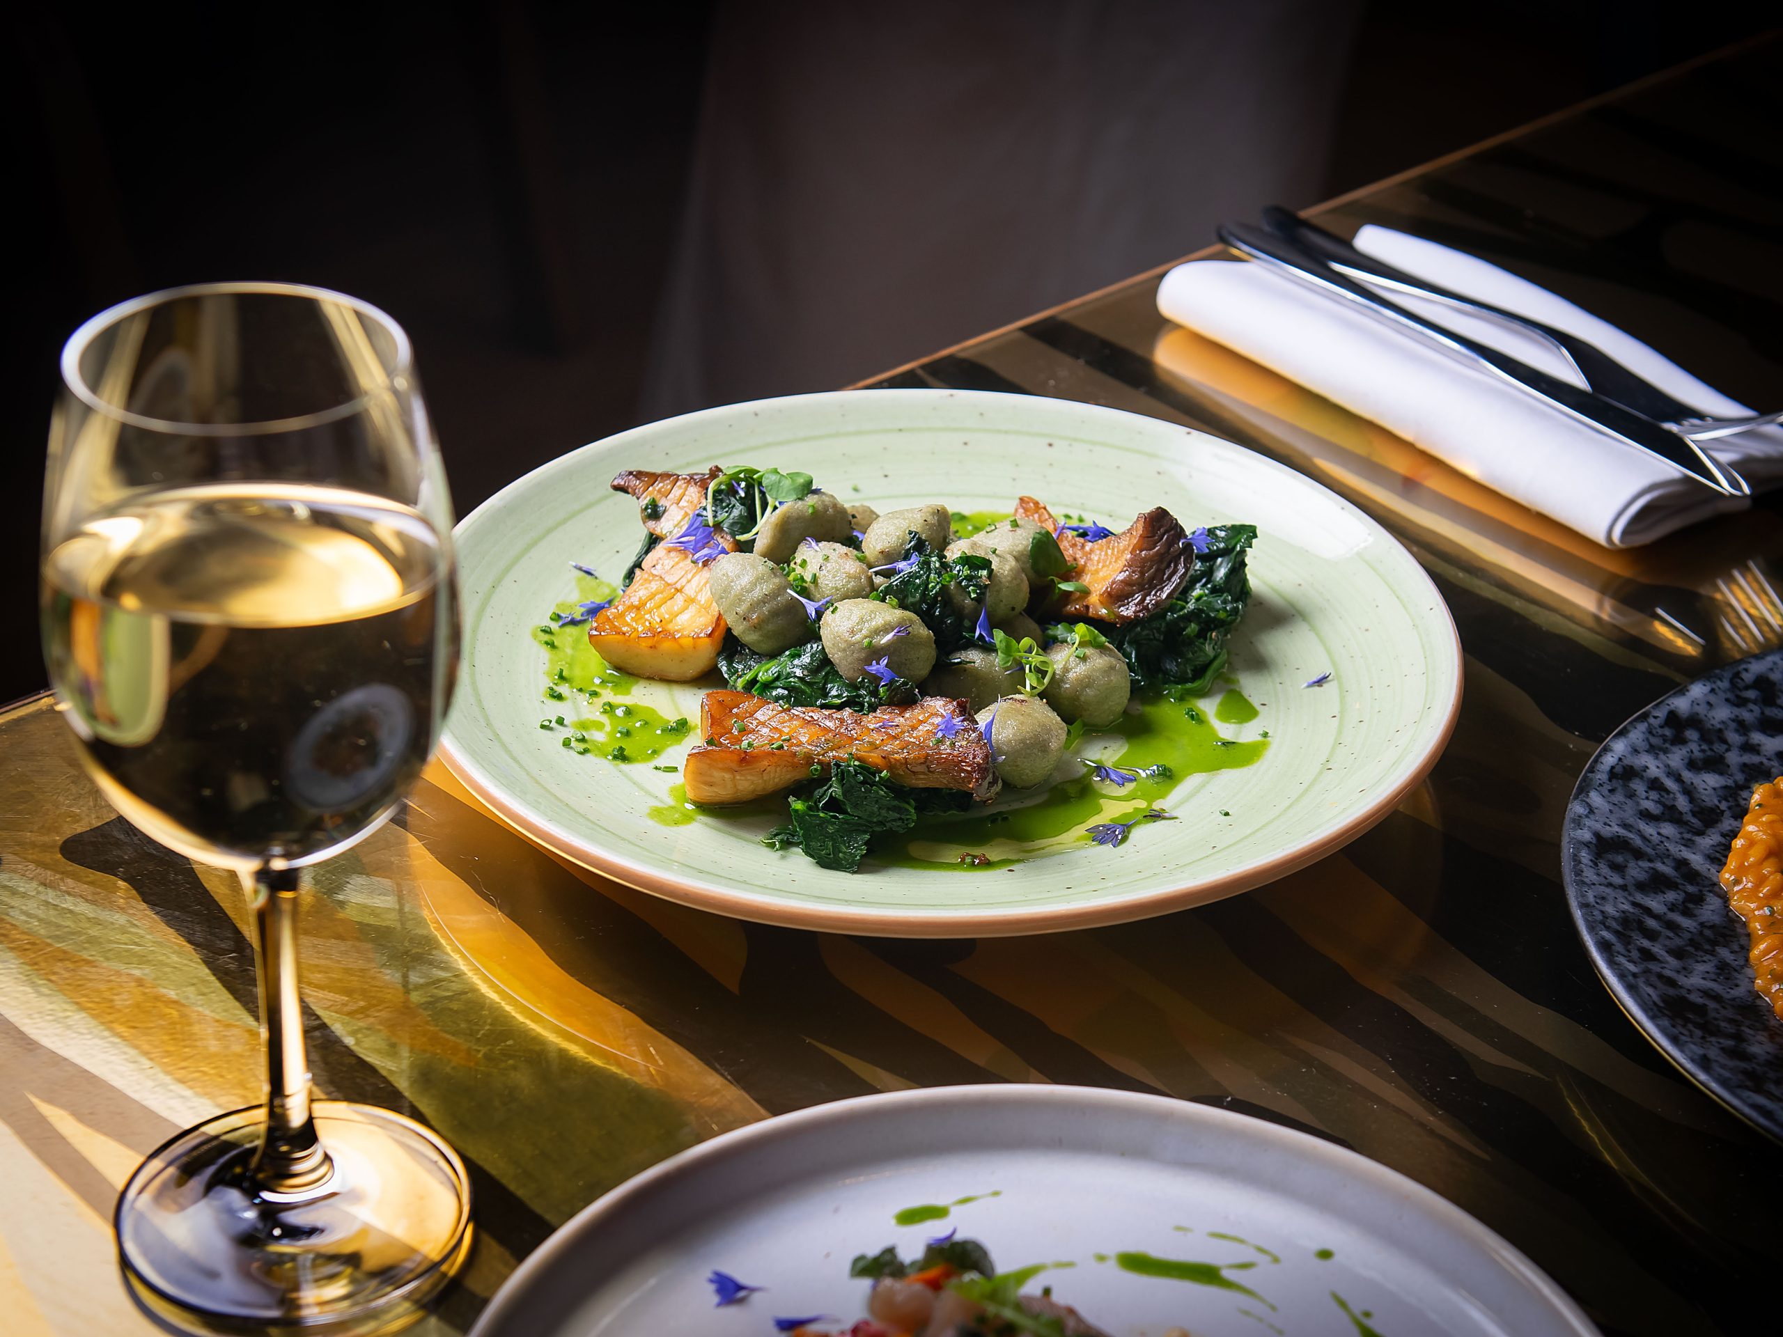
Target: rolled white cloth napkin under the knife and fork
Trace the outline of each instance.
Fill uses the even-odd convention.
[[[1409,275],[1589,339],[1705,414],[1753,412],[1628,332],[1475,255],[1373,225],[1353,244]],[[1548,344],[1508,321],[1421,298],[1385,296],[1583,385]],[[1157,289],[1157,308],[1606,547],[1649,544],[1694,521],[1751,504],[1746,497],[1721,496],[1664,460],[1382,324],[1341,298],[1250,260],[1177,266]],[[1738,471],[1753,492],[1783,485],[1783,426],[1722,437],[1705,447]]]

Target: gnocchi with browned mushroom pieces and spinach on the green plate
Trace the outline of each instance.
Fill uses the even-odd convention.
[[[881,838],[961,822],[998,793],[993,811],[1057,795],[1073,813],[1123,816],[1082,827],[1109,849],[1171,816],[1155,804],[1173,777],[1161,758],[1193,749],[1159,736],[1212,727],[1186,702],[1225,668],[1250,601],[1252,526],[1191,531],[1152,508],[1116,531],[1029,496],[1006,515],[940,501],[881,513],[809,474],[758,467],[626,471],[613,490],[637,499],[642,545],[619,588],[588,599],[585,586],[542,644],[587,624],[603,670],[724,677],[683,763],[688,804],[788,793],[765,843],[847,872]],[[606,690],[615,681],[608,672]],[[558,685],[546,695],[567,699]],[[576,738],[565,747],[592,751]],[[665,745],[603,754],[624,763]],[[1245,765],[1266,743],[1245,747],[1200,768]]]

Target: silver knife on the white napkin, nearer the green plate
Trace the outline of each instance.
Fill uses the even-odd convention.
[[[1467,335],[1448,330],[1435,321],[1426,321],[1423,316],[1417,316],[1391,298],[1384,298],[1380,292],[1375,292],[1355,278],[1350,278],[1350,275],[1343,273],[1343,269],[1334,266],[1330,260],[1311,253],[1296,242],[1245,223],[1221,225],[1218,228],[1218,237],[1234,251],[1262,262],[1271,269],[1287,273],[1293,278],[1311,283],[1332,296],[1343,298],[1360,307],[1375,319],[1382,319],[1407,330],[1425,342],[1435,344],[1451,357],[1469,362],[1524,392],[1535,394],[1569,417],[1608,431],[1612,437],[1619,437],[1635,449],[1642,449],[1647,455],[1664,460],[1715,492],[1722,492],[1726,496],[1747,496],[1751,492],[1746,480],[1724,469],[1712,455],[1697,447],[1687,437],[1669,431],[1651,419],[1623,408],[1612,399],[1592,394],[1590,390],[1582,390],[1578,385],[1564,381],[1558,376],[1549,376],[1546,371],[1539,371],[1537,367],[1519,362],[1508,353],[1501,353],[1489,344],[1482,344]]]

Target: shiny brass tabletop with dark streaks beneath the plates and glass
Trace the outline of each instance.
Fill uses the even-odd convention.
[[[1731,394],[1783,403],[1783,45],[1635,87],[1335,201],[1501,260]],[[1307,1128],[1523,1248],[1606,1332],[1751,1325],[1779,1150],[1617,1011],[1560,888],[1596,745],[1783,631],[1776,494],[1610,553],[1166,324],[1155,275],[877,385],[1086,399],[1239,440],[1387,524],[1460,627],[1430,781],[1261,891],[1138,925],[897,941],[683,909],[563,865],[433,768],[314,870],[307,1023],[325,1095],[410,1112],[471,1164],[478,1243],[417,1333],[455,1333],[603,1191],[824,1100],[956,1082],[1164,1091]],[[1708,645],[1656,619],[1696,590]],[[1756,779],[1756,777],[1754,777]],[[1730,815],[1730,822],[1735,815]],[[0,713],[0,1328],[152,1332],[111,1209],[184,1125],[259,1098],[230,877],[136,834],[43,697]],[[1730,929],[1731,931],[1731,929]],[[1762,1285],[1762,1284],[1760,1284]]]

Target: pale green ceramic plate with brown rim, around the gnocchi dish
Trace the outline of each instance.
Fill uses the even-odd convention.
[[[692,813],[670,799],[690,742],[615,765],[563,747],[540,720],[592,713],[547,697],[535,636],[576,597],[572,562],[619,576],[637,504],[608,490],[626,467],[802,469],[879,510],[945,501],[1007,512],[1018,494],[1122,528],[1168,506],[1186,526],[1248,521],[1255,597],[1228,681],[1257,715],[1223,738],[1266,749],[1237,770],[1182,775],[1159,799],[1179,820],[1125,845],[1080,829],[972,850],[1018,863],[963,868],[934,840],[922,866],[859,874],[765,849],[785,804]],[[859,492],[854,492],[859,488]],[[1441,595],[1378,524],[1271,460],[1150,417],[1063,399],[865,390],[765,399],[653,422],[585,446],[490,497],[456,531],[465,649],[442,754],[453,774],[542,845],[628,886],[747,920],[897,936],[1041,932],[1159,915],[1245,891],[1330,854],[1385,816],[1435,763],[1460,704],[1460,649]],[[1321,674],[1323,686],[1305,686]],[[638,683],[617,701],[699,722],[711,683]],[[612,697],[608,697],[612,701]],[[1234,711],[1228,711],[1232,715]],[[1243,711],[1236,711],[1243,713]],[[1109,820],[1132,808],[1111,795]],[[681,822],[665,825],[663,822]],[[965,849],[965,847],[963,847]]]

